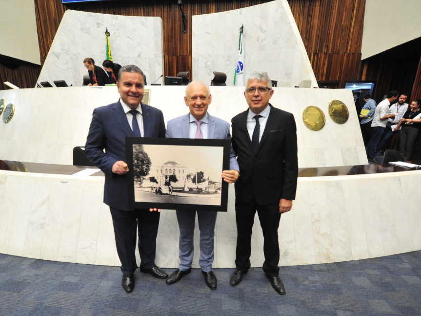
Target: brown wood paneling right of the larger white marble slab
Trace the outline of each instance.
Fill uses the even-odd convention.
[[[365,0],[288,0],[318,81],[357,80]]]

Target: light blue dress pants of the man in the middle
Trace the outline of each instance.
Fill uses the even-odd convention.
[[[180,265],[181,271],[191,268],[194,253],[194,230],[196,212],[200,230],[200,258],[199,265],[202,271],[212,271],[214,259],[214,234],[217,213],[214,211],[184,211],[177,210],[177,221],[180,228]]]

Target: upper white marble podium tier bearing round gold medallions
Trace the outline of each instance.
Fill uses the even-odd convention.
[[[185,87],[147,88],[150,104],[163,111],[165,122],[188,113]],[[248,108],[241,87],[212,86],[210,90],[211,115],[231,122]],[[1,98],[15,104],[12,120],[0,124],[0,158],[72,164],[73,147],[86,142],[93,109],[117,102],[119,96],[114,86],[0,91]],[[274,88],[271,104],[294,114],[302,168],[367,164],[357,113],[350,110],[348,121],[342,125],[328,116],[328,105],[335,99],[343,101],[348,109],[354,106],[350,90]],[[302,111],[308,105],[316,105],[325,113],[326,124],[320,131],[310,130],[302,122]]]

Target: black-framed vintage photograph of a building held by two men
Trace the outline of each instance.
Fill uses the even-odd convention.
[[[227,211],[230,140],[126,137],[130,207]]]

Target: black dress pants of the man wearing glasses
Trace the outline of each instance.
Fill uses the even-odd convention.
[[[263,271],[269,276],[278,276],[278,228],[281,219],[279,203],[262,206],[256,202],[254,197],[248,203],[236,199],[235,217],[237,222],[237,250],[235,265],[237,270],[240,270],[243,273],[246,273],[250,268],[250,243],[256,210],[263,231]]]

